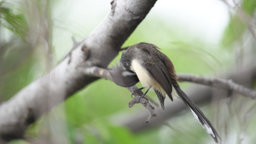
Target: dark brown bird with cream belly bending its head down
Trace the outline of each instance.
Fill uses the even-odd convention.
[[[154,89],[162,109],[165,109],[164,101],[166,95],[173,101],[172,92],[176,91],[180,98],[191,110],[202,127],[218,143],[219,135],[211,122],[197,107],[194,101],[189,99],[177,84],[177,75],[172,61],[162,52],[160,48],[152,43],[137,43],[123,51],[119,64],[109,69],[113,82],[122,87],[131,87],[138,82],[146,88]]]

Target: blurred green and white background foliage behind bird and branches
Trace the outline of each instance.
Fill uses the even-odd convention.
[[[110,2],[105,0],[0,2],[0,102],[8,101],[49,72],[72,47],[71,37],[81,40],[88,36],[110,10]],[[248,31],[247,17],[255,16],[256,1],[234,2],[160,0],[124,46],[154,43],[172,60],[176,72],[221,77],[234,66],[243,68],[244,61],[255,55],[255,40]],[[239,9],[247,16],[241,15]],[[109,66],[114,66],[119,57]],[[189,89],[193,84],[181,83],[181,86]],[[154,92],[148,95],[156,100]],[[26,136],[64,144],[214,143],[189,111],[166,119],[166,124],[137,133],[115,124],[115,116],[131,118],[131,113],[144,108],[130,109],[129,101],[131,93],[127,89],[104,79],[97,80],[44,114],[28,128]],[[226,101],[219,103],[228,107]],[[237,112],[236,106],[249,100],[238,96],[232,101],[235,104],[229,112]],[[215,125],[218,118],[214,117],[211,106],[215,105],[201,109]],[[255,108],[249,113],[253,106],[254,101],[243,106],[247,113],[242,114],[249,118],[230,114],[225,121],[226,131],[219,131],[223,143],[256,141],[253,136],[256,115],[252,114]]]

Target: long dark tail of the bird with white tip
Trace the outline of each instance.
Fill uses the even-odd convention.
[[[180,89],[179,85],[173,84],[174,89],[177,91],[177,95],[183,100],[183,102],[186,104],[187,107],[191,110],[195,118],[200,122],[202,127],[207,130],[207,133],[212,136],[214,141],[218,143],[218,133],[217,131],[213,128],[211,122],[207,119],[207,117],[204,115],[203,112],[195,105],[193,101],[189,99],[189,97],[183,92],[182,89]]]

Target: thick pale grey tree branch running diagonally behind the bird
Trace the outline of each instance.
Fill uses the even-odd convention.
[[[113,0],[102,23],[86,39],[75,43],[52,71],[0,106],[0,142],[22,138],[27,126],[44,112],[96,80],[84,74],[84,67],[107,67],[155,2]]]

